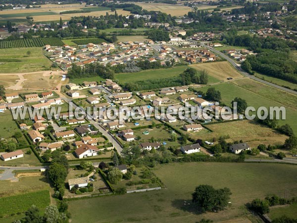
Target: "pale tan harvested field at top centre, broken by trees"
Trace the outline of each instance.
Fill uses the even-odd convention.
[[[179,4],[167,4],[167,3],[139,3],[135,2],[135,4],[140,5],[143,9],[148,11],[161,11],[167,14],[171,14],[172,16],[183,16],[188,14],[189,11],[192,11],[191,7],[179,5]],[[213,8],[215,8],[214,6]],[[211,8],[209,5],[200,6],[198,9],[206,9]]]

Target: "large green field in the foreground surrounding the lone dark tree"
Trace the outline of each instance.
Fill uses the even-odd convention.
[[[70,201],[69,211],[72,223],[80,223],[87,218],[90,223],[195,223],[202,218],[214,222],[233,222],[233,219],[240,217],[248,222],[247,217],[251,220],[254,217],[244,205],[252,199],[264,198],[270,193],[282,196],[283,188],[289,191],[290,197],[297,195],[296,170],[296,166],[278,164],[169,164],[154,170],[167,189]],[[219,214],[193,213],[192,205],[185,206],[184,201],[191,204],[191,193],[199,184],[211,184],[215,188],[229,187],[232,206]]]

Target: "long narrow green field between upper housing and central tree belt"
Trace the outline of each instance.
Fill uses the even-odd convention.
[[[157,70],[143,70],[136,73],[119,73],[115,75],[115,79],[119,80],[120,84],[125,84],[128,82],[136,82],[142,80],[170,78],[178,76],[187,68],[188,66],[176,66],[172,68],[164,68]],[[220,80],[212,76],[211,73],[209,74],[209,84],[220,82]]]

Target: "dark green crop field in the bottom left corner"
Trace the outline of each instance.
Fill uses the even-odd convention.
[[[43,190],[11,197],[0,198],[0,215],[10,215],[26,211],[34,204],[40,209],[49,205],[49,191]]]

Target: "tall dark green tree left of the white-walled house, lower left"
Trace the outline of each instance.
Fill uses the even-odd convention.
[[[58,163],[52,163],[49,166],[49,179],[55,187],[61,187],[67,177],[66,168]]]

